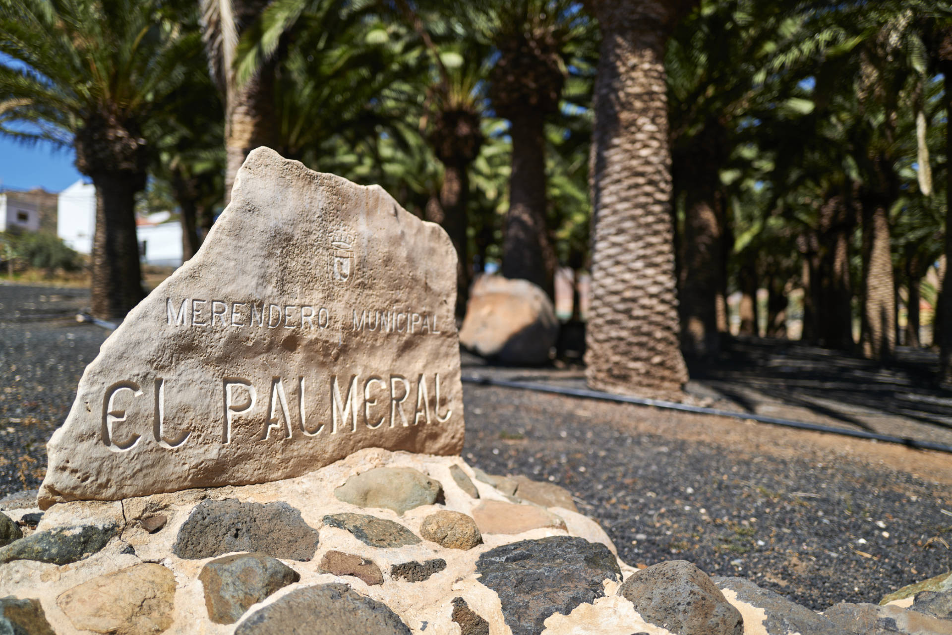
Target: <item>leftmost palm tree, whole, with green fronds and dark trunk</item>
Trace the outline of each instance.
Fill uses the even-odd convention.
[[[136,192],[146,184],[144,131],[176,108],[200,62],[196,31],[159,0],[4,0],[0,133],[71,146],[96,186],[92,313],[126,315],[143,297]]]

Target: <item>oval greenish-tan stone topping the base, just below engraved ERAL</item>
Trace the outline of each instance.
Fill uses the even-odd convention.
[[[433,505],[443,486],[412,467],[374,467],[354,474],[334,490],[338,499],[358,507],[382,507],[403,514],[421,505]]]

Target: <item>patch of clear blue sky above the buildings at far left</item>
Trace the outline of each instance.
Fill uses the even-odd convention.
[[[0,137],[0,187],[67,189],[83,175],[72,165],[73,151],[50,144],[24,146]]]

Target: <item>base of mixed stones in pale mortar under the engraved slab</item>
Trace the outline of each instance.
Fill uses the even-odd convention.
[[[642,574],[594,521],[486,480],[460,457],[369,448],[274,483],[59,504],[35,528],[37,508],[0,505],[23,533],[0,546],[0,632],[850,632],[687,563]],[[651,600],[677,593],[703,601]],[[839,611],[850,624],[865,624],[860,607],[876,623],[876,607],[855,606]],[[942,616],[907,613],[891,624],[952,633]]]

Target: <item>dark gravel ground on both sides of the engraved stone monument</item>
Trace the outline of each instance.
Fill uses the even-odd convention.
[[[73,319],[88,297],[0,286],[0,496],[42,480],[108,335]],[[948,454],[500,387],[465,401],[472,465],[567,487],[629,564],[684,559],[815,609],[952,568]]]

